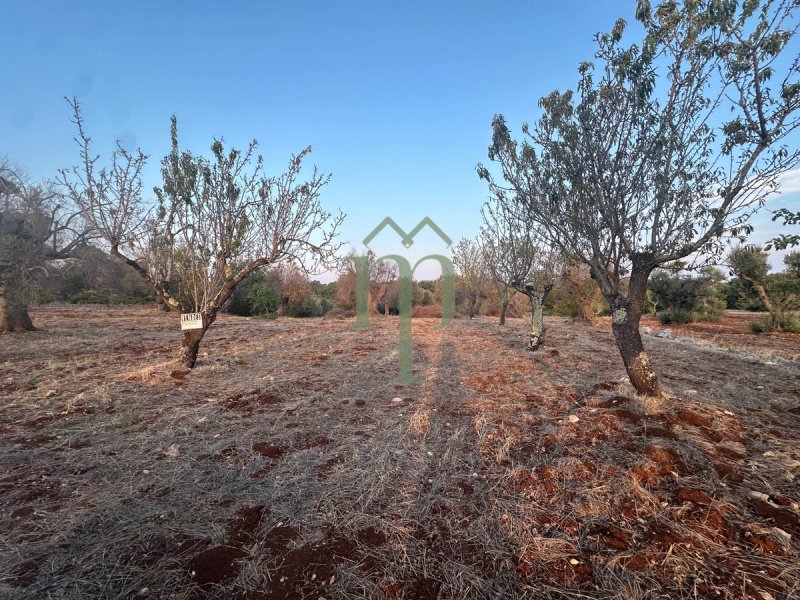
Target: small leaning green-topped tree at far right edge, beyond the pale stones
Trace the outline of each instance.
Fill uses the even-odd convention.
[[[767,253],[758,246],[737,246],[728,254],[728,263],[735,275],[748,281],[770,316],[770,329],[783,329],[786,312],[797,308],[798,281],[788,277],[767,275],[770,270]]]

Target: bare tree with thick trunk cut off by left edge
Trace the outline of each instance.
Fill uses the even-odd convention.
[[[50,184],[31,185],[0,161],[0,332],[31,331],[31,285],[87,239],[80,215]]]

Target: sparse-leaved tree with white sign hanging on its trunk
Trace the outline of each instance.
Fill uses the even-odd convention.
[[[148,280],[165,304],[202,314],[201,329],[183,332],[178,354],[183,367],[194,367],[205,332],[249,274],[285,262],[309,271],[332,262],[344,217],[320,205],[330,176],[315,168],[299,181],[310,147],[291,157],[285,173],[268,177],[255,141],[239,151],[226,150],[215,139],[210,157],[195,156],[179,147],[173,117],[172,150],[161,162],[163,185],[155,188],[158,205],[148,214],[141,196],[146,157],[118,144],[110,167],[98,170],[77,102],[73,108],[81,166],[62,171],[62,181],[114,256]],[[161,248],[156,262],[170,262],[177,284],[164,285],[160,266],[146,268],[130,254],[154,245]]]

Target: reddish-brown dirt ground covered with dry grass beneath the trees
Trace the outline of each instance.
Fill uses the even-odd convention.
[[[223,317],[188,375],[175,315],[33,318],[0,336],[4,598],[800,597],[800,365],[646,336],[659,405],[602,322],[531,354],[415,320],[396,385],[393,317]]]

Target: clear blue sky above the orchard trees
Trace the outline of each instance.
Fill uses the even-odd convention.
[[[77,162],[65,96],[77,97],[95,150],[115,140],[150,155],[159,184],[169,120],[207,151],[257,139],[278,174],[292,153],[332,173],[322,203],[347,213],[357,248],[385,217],[409,231],[430,217],[475,238],[488,192],[491,120],[515,132],[538,99],[574,87],[593,36],[635,0],[448,2],[41,2],[6,0],[0,36],[0,156],[34,178]],[[795,51],[796,53],[796,51]],[[800,204],[800,171],[767,208]],[[780,230],[768,211],[752,241]],[[391,245],[391,233],[376,240]],[[428,231],[417,255],[449,254]],[[773,259],[779,264],[779,257]]]

